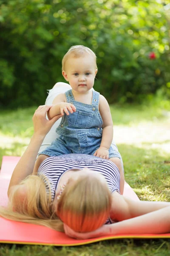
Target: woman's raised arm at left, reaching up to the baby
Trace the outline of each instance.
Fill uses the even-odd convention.
[[[45,138],[45,135],[50,131],[52,125],[61,117],[61,115],[55,116],[50,121],[46,119],[46,113],[51,108],[50,105],[43,105],[37,108],[33,116],[34,123],[34,135],[28,145],[28,148],[24,152],[20,161],[14,169],[12,174],[9,187],[8,196],[10,194],[11,188],[14,185],[20,183],[21,180],[31,175],[34,169],[34,164],[36,161],[37,153]]]

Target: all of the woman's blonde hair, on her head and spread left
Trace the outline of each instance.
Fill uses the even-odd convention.
[[[20,185],[26,187],[26,195],[18,200]],[[95,176],[70,179],[57,204],[51,197],[45,176],[31,175],[13,187],[8,206],[0,207],[0,216],[61,232],[64,232],[64,222],[77,232],[90,232],[105,223],[110,209],[111,194],[107,183]]]

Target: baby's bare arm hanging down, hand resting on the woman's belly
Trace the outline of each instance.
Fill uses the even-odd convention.
[[[113,140],[113,122],[108,102],[102,95],[100,95],[99,98],[99,112],[103,120],[102,141],[100,144],[100,148],[96,150],[94,156],[109,159],[108,150]]]

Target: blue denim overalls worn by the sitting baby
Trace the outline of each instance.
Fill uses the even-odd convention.
[[[102,117],[99,113],[99,93],[93,92],[91,105],[74,100],[72,90],[65,92],[67,102],[74,104],[76,112],[64,114],[56,129],[59,138],[40,154],[59,156],[61,154],[91,154],[99,148],[102,140]],[[109,158],[119,157],[118,151],[109,149]]]

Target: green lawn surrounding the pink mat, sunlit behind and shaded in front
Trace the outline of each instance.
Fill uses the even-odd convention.
[[[3,155],[23,154],[33,134],[32,116],[35,108],[4,111],[0,113],[0,163]],[[111,105],[115,129],[127,129],[125,138],[130,143],[119,143],[125,166],[125,180],[135,190],[141,200],[170,201],[170,119],[168,111],[158,106]],[[141,138],[140,143],[128,132],[139,127],[161,126],[162,134],[150,141]],[[148,126],[147,126],[148,125]],[[160,131],[159,131],[160,132]],[[140,131],[139,131],[140,133]],[[132,132],[133,134],[133,132]],[[140,134],[139,134],[140,135]],[[142,136],[142,135],[141,135]],[[162,140],[159,141],[162,136]],[[123,137],[123,138],[124,138]],[[140,136],[139,136],[140,137]],[[149,138],[148,138],[149,139]],[[154,147],[156,145],[156,147]],[[162,148],[162,145],[165,145]],[[167,147],[166,147],[167,146]],[[120,239],[102,241],[78,247],[48,247],[31,245],[1,244],[0,256],[167,256],[170,255],[170,239]]]

